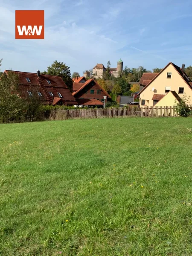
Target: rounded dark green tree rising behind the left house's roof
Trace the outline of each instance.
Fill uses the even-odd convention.
[[[54,61],[43,74],[61,76],[67,87],[72,91],[73,81],[71,79],[70,67],[63,62]]]

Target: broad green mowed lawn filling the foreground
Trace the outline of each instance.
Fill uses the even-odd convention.
[[[0,255],[192,255],[192,119],[0,125]]]

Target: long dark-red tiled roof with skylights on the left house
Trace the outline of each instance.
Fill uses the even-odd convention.
[[[5,70],[8,74],[18,75],[18,93],[22,98],[32,97],[37,93],[45,105],[76,105],[76,99],[60,76],[51,76],[37,73]]]

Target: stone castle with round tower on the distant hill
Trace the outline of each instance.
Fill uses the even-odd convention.
[[[120,59],[117,61],[117,67],[110,67],[110,73],[114,77],[118,77],[120,73],[122,73],[123,70],[123,61]],[[93,67],[93,74],[91,77],[93,78],[102,78],[103,73],[106,72],[106,68],[103,64],[96,64],[95,67]]]

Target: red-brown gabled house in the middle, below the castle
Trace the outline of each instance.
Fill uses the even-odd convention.
[[[95,79],[89,79],[85,83],[73,83],[72,95],[79,105],[103,106],[111,96],[97,83]],[[104,99],[106,96],[106,99]]]

